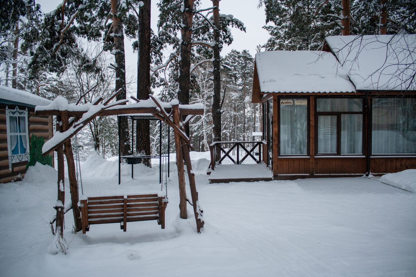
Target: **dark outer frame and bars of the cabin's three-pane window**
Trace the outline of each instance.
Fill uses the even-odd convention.
[[[318,99],[361,99],[362,101],[362,111],[361,112],[318,112]],[[365,155],[365,130],[366,130],[366,107],[365,107],[365,96],[316,96],[314,97],[315,107],[314,107],[314,132],[315,132],[315,153],[314,155],[319,156],[364,156]],[[341,117],[344,114],[353,114],[353,115],[362,115],[362,153],[361,154],[341,154]],[[318,116],[319,115],[335,115],[337,116],[337,152],[336,153],[318,153]]]

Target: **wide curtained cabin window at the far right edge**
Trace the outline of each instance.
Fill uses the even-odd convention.
[[[372,154],[416,154],[416,99],[374,98]]]

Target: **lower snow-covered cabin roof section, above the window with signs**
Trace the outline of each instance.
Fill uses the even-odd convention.
[[[255,56],[262,93],[355,92],[332,53],[266,51]]]

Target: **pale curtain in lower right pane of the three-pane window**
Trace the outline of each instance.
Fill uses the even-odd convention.
[[[362,121],[362,115],[341,115],[341,154],[362,154]]]

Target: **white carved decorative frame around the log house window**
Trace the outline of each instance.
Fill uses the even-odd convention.
[[[26,118],[26,149],[27,152],[23,154],[12,154],[11,149],[11,139],[10,139],[10,116],[24,116]],[[30,158],[30,148],[29,148],[29,123],[28,123],[28,111],[26,110],[20,110],[17,106],[15,109],[9,109],[6,106],[6,129],[7,129],[7,152],[9,156],[9,169],[12,171],[12,164],[16,162],[24,162],[28,161]]]

